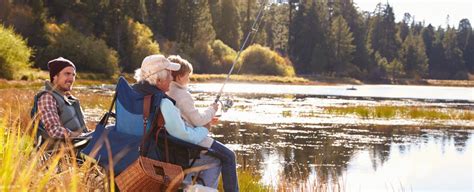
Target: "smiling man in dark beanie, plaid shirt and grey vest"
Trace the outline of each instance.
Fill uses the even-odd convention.
[[[79,100],[70,93],[76,66],[59,57],[48,62],[48,69],[50,81],[36,94],[33,114],[38,114],[40,129],[45,130],[47,137],[78,137],[87,132],[87,127]]]

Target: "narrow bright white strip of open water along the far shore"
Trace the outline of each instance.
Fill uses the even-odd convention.
[[[195,92],[219,92],[222,84],[194,84]],[[352,90],[352,88],[356,90]],[[272,85],[272,84],[227,84],[226,93],[245,94],[293,94],[315,96],[344,96],[396,99],[423,99],[474,102],[472,87],[408,86],[408,85]]]

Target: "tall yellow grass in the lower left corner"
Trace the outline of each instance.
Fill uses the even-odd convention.
[[[36,126],[22,127],[10,117],[0,118],[0,191],[108,189],[105,172],[91,161],[80,161],[72,144],[61,144],[54,150],[47,149],[47,144],[35,148],[32,135],[36,135]]]

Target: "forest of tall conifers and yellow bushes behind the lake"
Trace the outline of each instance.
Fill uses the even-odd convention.
[[[149,54],[179,54],[197,73],[226,73],[260,0],[0,0],[0,77],[63,56],[79,71],[130,73]],[[379,4],[350,0],[268,3],[242,52],[242,74],[326,75],[361,80],[469,79],[468,19],[432,26]],[[16,43],[15,43],[16,42]],[[12,51],[13,50],[13,51]]]

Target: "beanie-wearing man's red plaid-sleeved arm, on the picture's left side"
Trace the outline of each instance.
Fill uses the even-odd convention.
[[[50,137],[64,138],[71,136],[71,131],[61,124],[56,100],[50,93],[45,93],[38,99],[38,112],[41,114],[44,129]]]

